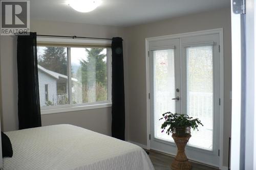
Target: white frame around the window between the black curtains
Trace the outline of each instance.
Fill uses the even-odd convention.
[[[92,39],[70,39],[70,38],[49,38],[49,37],[37,37],[37,43],[55,43],[55,44],[72,44],[84,46],[90,45],[111,45],[111,40],[92,40]],[[109,49],[109,50],[108,50]],[[69,52],[68,52],[69,53]],[[94,102],[94,103],[82,103],[82,104],[67,104],[67,105],[57,105],[57,106],[44,106],[41,107],[41,114],[51,114],[51,113],[61,113],[61,112],[71,112],[79,110],[89,110],[89,109],[99,109],[112,107],[112,54],[111,49],[107,48],[107,75],[108,75],[108,101]],[[68,55],[68,81],[69,81],[69,100],[72,101],[71,95],[71,56]]]

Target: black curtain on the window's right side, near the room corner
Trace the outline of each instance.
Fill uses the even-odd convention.
[[[112,39],[112,137],[124,140],[124,81],[122,38]]]

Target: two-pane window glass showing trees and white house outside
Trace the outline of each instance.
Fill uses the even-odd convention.
[[[111,104],[110,46],[38,44],[42,114]]]

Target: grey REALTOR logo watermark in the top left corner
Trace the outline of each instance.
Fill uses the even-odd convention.
[[[29,35],[30,1],[1,0],[0,35]]]

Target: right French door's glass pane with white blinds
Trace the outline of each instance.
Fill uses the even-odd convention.
[[[199,118],[204,125],[191,131],[188,145],[212,151],[213,149],[213,46],[185,48],[187,78],[187,114]]]

